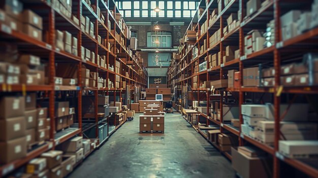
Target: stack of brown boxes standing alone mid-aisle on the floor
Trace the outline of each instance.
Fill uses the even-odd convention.
[[[139,117],[139,131],[142,132],[165,132],[165,113],[161,104],[155,101],[142,101],[147,106],[144,107],[144,115]],[[160,101],[162,102],[162,101]]]

